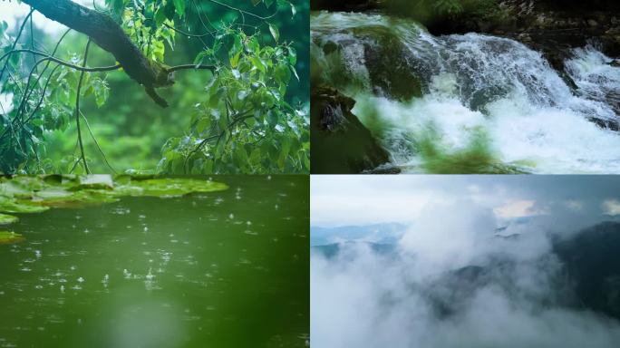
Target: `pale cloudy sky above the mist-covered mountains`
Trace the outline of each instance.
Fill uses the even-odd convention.
[[[450,206],[489,209],[499,224],[547,217],[586,227],[620,215],[620,181],[613,176],[324,175],[311,184],[315,227],[411,224],[430,207]]]

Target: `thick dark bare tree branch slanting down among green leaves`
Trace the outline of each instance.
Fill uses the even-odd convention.
[[[170,85],[172,79],[162,78],[161,72],[151,64],[123,32],[121,25],[111,16],[73,3],[71,0],[23,0],[47,18],[88,35],[92,42],[114,55],[131,79],[148,90]],[[165,74],[164,74],[165,76]],[[156,101],[161,106],[161,101]]]

